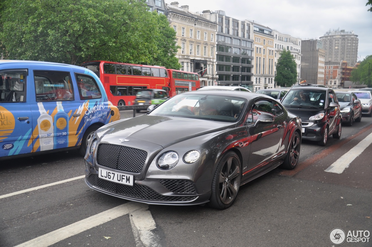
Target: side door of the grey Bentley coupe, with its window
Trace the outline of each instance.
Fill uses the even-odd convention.
[[[274,122],[254,126],[258,116],[263,113],[273,116]],[[275,156],[283,148],[282,137],[285,123],[283,123],[281,116],[276,116],[274,101],[268,99],[257,100],[253,104],[251,114],[252,120],[247,123],[248,134],[251,137],[250,154],[247,170],[243,173],[257,173],[270,166],[275,161]]]

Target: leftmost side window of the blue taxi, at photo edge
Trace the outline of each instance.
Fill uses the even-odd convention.
[[[0,71],[0,102],[26,101],[27,70]]]

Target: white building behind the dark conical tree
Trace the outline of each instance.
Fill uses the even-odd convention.
[[[274,46],[275,46],[275,62],[274,62],[274,70],[276,68],[276,63],[280,57],[280,52],[284,49],[290,51],[295,62],[296,62],[296,70],[297,70],[297,84],[300,82],[301,78],[301,39],[294,38],[291,35],[278,32],[273,30],[274,38]],[[275,73],[276,74],[276,73]]]

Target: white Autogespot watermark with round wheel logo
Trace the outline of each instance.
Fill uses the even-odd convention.
[[[369,235],[369,231],[348,231],[346,234],[341,228],[334,228],[329,233],[329,240],[336,245],[344,243],[345,240],[347,243],[369,243]]]

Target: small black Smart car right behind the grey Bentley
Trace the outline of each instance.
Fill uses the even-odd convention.
[[[342,117],[336,93],[323,87],[292,87],[282,104],[302,120],[302,139],[325,146],[329,135],[341,137]]]

